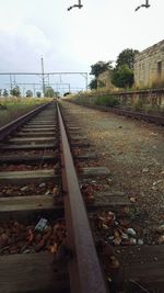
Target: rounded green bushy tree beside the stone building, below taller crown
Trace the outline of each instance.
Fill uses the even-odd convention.
[[[124,65],[120,69],[115,68],[112,75],[112,82],[118,88],[131,88],[133,84],[133,71]]]

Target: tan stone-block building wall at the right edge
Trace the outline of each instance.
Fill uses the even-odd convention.
[[[133,69],[137,88],[164,87],[164,40],[137,54]]]

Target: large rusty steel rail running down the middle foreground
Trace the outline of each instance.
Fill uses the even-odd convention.
[[[96,253],[85,205],[79,188],[62,116],[57,105],[61,135],[62,183],[67,241],[72,257],[68,262],[71,293],[109,292]]]

